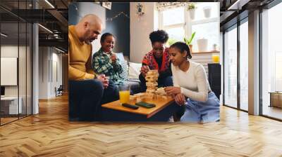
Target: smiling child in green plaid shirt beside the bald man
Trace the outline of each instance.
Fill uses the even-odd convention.
[[[122,85],[125,81],[121,77],[123,71],[121,63],[113,53],[114,35],[105,33],[101,36],[101,48],[92,57],[92,68],[97,74],[105,74],[109,79],[114,81],[116,85]]]

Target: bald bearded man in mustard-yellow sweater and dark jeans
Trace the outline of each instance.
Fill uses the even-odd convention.
[[[92,70],[92,41],[102,32],[97,15],[85,15],[68,27],[69,119],[101,120],[101,104],[118,100],[118,88]]]

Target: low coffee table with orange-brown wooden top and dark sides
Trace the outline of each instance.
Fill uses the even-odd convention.
[[[143,99],[143,102],[156,104],[156,107],[147,109],[130,109],[121,106],[119,100],[102,104],[102,121],[168,121],[168,118],[175,111],[180,109],[171,97],[162,97],[158,99]],[[130,101],[128,104],[135,104]]]

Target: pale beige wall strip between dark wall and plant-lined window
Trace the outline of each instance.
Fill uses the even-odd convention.
[[[142,18],[138,18],[136,14],[137,4],[142,4],[145,9],[145,14]],[[146,53],[152,50],[149,34],[157,29],[154,25],[154,16],[157,13],[154,11],[152,2],[130,2],[130,62],[142,62]]]

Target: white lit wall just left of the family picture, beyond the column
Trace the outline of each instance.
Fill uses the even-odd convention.
[[[62,84],[62,55],[50,47],[39,47],[39,52],[39,99],[49,99]]]

